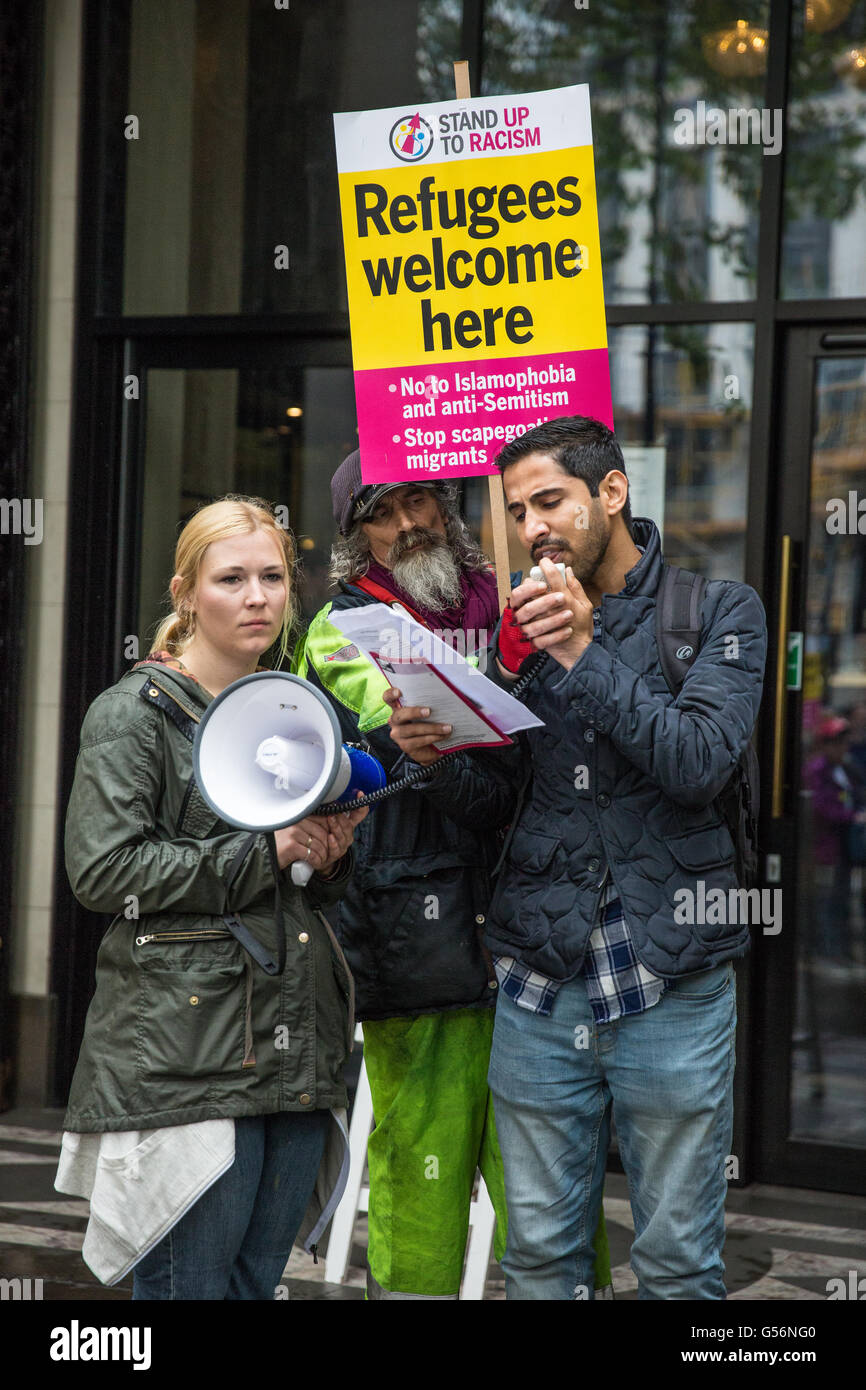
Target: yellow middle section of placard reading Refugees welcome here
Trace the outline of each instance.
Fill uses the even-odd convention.
[[[339,190],[356,370],[607,346],[592,146]]]

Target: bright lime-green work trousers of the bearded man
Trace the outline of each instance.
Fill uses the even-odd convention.
[[[487,1084],[493,1009],[364,1023],[370,1136],[370,1298],[456,1298],[481,1169],[505,1252],[505,1177]],[[603,1215],[596,1289],[610,1283]]]

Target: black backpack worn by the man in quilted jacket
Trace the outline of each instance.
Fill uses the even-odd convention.
[[[701,605],[706,580],[691,570],[666,564],[656,595],[656,642],[671,695],[683,689],[685,673],[701,648]],[[760,767],[749,739],[716,805],[724,816],[737,853],[737,878],[744,888],[758,881],[758,813]]]

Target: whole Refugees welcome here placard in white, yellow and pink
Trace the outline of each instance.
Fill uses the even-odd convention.
[[[366,482],[613,425],[589,90],[334,117]]]

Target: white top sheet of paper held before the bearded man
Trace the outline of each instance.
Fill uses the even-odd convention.
[[[475,666],[470,666],[466,657],[460,656],[453,646],[443,642],[430,628],[416,623],[405,610],[396,610],[388,603],[370,603],[364,607],[348,609],[342,613],[328,614],[334,623],[354,645],[373,660],[373,652],[379,653],[379,660],[393,663],[406,660],[430,662],[431,666],[442,671],[448,681],[457,691],[475,705],[481,713],[502,734],[514,734],[521,728],[539,728],[542,719],[513,699],[507,691],[488,681]],[[403,689],[403,687],[399,687]],[[406,692],[405,698],[406,698]],[[409,699],[406,699],[409,703]],[[430,703],[425,701],[424,703]],[[430,706],[434,709],[434,706]],[[438,716],[431,714],[431,719]],[[438,720],[449,724],[450,720]]]

